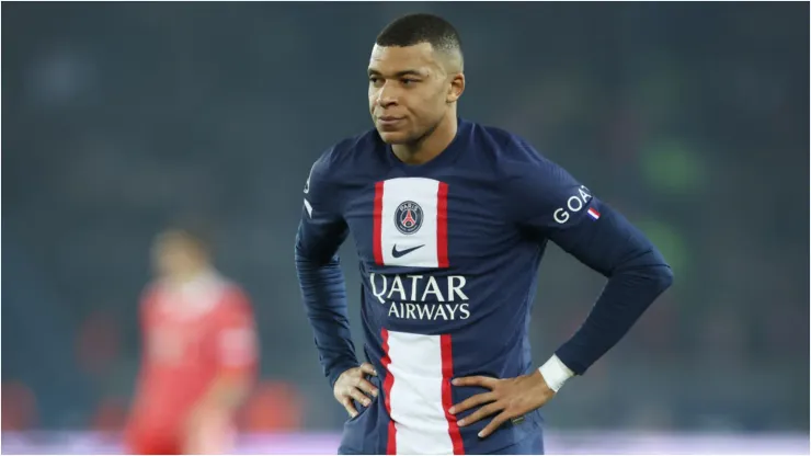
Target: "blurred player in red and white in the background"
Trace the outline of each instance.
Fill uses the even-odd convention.
[[[141,300],[145,353],[127,426],[134,454],[220,454],[256,367],[248,297],[213,267],[193,228],[160,233]]]

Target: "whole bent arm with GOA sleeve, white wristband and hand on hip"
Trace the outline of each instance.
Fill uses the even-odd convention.
[[[495,414],[480,437],[492,434],[507,420],[542,407],[567,379],[583,374],[619,342],[673,282],[662,255],[625,217],[532,147],[522,144],[517,152],[517,160],[505,162],[506,175],[502,179],[507,217],[528,239],[552,240],[608,277],[608,284],[583,326],[538,371],[515,378],[473,376],[453,380],[455,386],[490,390],[449,410],[457,414],[482,406],[459,420],[460,426]]]

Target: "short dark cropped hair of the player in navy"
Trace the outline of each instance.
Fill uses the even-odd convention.
[[[427,13],[408,14],[386,25],[377,35],[378,46],[413,46],[430,43],[434,49],[461,53],[461,38],[450,22]]]

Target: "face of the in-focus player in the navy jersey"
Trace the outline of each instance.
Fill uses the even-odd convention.
[[[388,144],[423,137],[442,121],[452,98],[452,78],[431,44],[375,45],[369,59],[369,112]]]

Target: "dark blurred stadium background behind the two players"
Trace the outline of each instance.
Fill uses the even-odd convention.
[[[148,249],[187,213],[215,224],[216,263],[258,316],[245,435],[340,432],[293,264],[301,189],[325,148],[372,127],[375,36],[415,11],[461,33],[464,117],[526,137],[675,270],[545,409],[549,449],[698,432],[791,435],[808,453],[809,4],[614,2],[3,2],[3,451],[121,430]],[[550,249],[536,364],[603,284]]]

